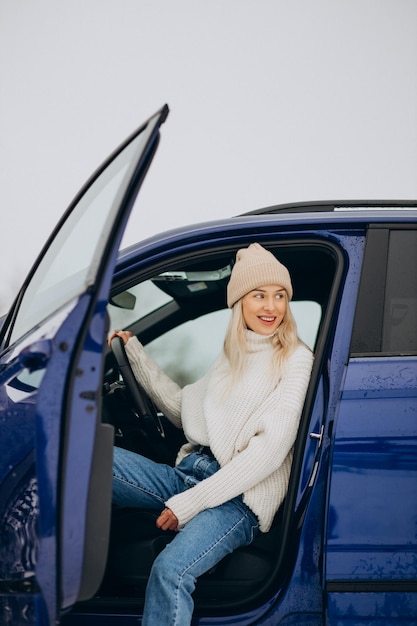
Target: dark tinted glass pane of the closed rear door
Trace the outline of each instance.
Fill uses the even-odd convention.
[[[416,230],[392,230],[390,233],[382,351],[417,351]]]

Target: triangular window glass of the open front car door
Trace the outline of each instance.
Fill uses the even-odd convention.
[[[105,165],[65,216],[23,293],[10,343],[96,284],[120,203],[158,120],[155,116]]]

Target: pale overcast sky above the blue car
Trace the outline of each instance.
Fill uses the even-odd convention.
[[[0,312],[167,102],[125,243],[300,200],[417,197],[416,0],[0,0]]]

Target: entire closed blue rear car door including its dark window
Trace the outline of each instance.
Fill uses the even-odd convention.
[[[417,227],[367,234],[327,523],[328,624],[415,624]]]

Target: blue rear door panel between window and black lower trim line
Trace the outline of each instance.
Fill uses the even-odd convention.
[[[332,466],[328,580],[417,579],[417,359],[352,359]]]

